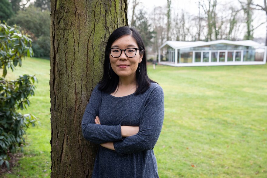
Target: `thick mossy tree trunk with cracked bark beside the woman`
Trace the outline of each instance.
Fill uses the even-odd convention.
[[[97,147],[81,121],[103,73],[111,32],[127,23],[126,0],[51,0],[51,177],[91,177]]]

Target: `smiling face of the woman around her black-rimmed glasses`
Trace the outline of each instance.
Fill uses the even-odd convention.
[[[132,36],[123,35],[112,43],[111,48],[127,49],[139,47],[137,45],[136,40]],[[116,52],[120,52],[120,50]],[[142,61],[142,58],[143,54],[140,54],[138,49],[136,51],[136,55],[132,58],[127,57],[125,55],[125,51],[122,51],[120,57],[117,58],[114,58],[110,54],[110,65],[113,71],[119,77],[135,77],[135,72],[137,70],[138,63]]]

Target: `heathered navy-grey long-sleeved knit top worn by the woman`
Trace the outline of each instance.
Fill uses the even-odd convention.
[[[100,123],[94,119],[99,116]],[[113,142],[116,151],[99,145],[93,178],[159,177],[153,148],[164,118],[164,93],[151,83],[143,94],[115,97],[94,88],[82,120],[82,133],[93,143]],[[136,135],[121,136],[121,126],[139,126]]]

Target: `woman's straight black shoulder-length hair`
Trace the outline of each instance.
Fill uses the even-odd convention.
[[[146,57],[146,51],[144,42],[140,36],[140,34],[137,32],[136,29],[128,26],[123,26],[120,28],[117,28],[109,37],[107,44],[106,44],[106,52],[105,52],[105,61],[104,61],[104,73],[103,78],[99,82],[99,87],[103,92],[106,93],[112,93],[116,90],[118,83],[119,83],[119,76],[112,70],[110,66],[110,47],[112,43],[120,38],[123,35],[130,35],[132,36],[138,45],[138,48],[140,49],[140,54],[143,54],[142,61],[138,64],[137,71],[136,71],[136,82],[137,82],[137,89],[135,94],[138,95],[140,93],[144,93],[147,88],[150,86],[150,82],[155,82],[151,80],[147,75],[147,57]],[[140,67],[140,68],[139,68]],[[140,73],[139,73],[140,69]],[[157,83],[157,82],[155,82]]]

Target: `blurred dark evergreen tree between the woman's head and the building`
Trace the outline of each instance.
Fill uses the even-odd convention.
[[[151,24],[149,24],[143,9],[139,10],[138,16],[132,26],[140,33],[145,46],[149,46],[151,44],[151,39],[154,38],[155,32],[152,30]]]

